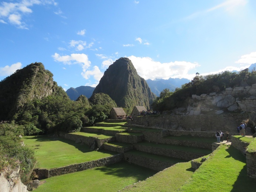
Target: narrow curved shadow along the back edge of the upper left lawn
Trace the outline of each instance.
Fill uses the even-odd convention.
[[[89,149],[89,145],[81,144],[81,143],[75,143],[75,141],[73,141],[73,140],[64,139],[64,138],[61,138],[61,137],[36,136],[36,137],[27,138],[27,139],[33,139],[36,142],[61,141],[63,143],[74,146],[76,149],[78,149],[79,151],[81,151],[83,153],[92,151],[92,150]],[[110,154],[110,155],[117,154],[116,152],[107,151],[107,150],[99,150],[99,152],[107,153],[107,154]]]

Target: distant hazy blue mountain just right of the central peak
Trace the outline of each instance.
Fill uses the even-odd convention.
[[[176,88],[180,88],[181,85],[190,82],[189,79],[179,79],[179,78],[169,78],[169,79],[147,79],[147,84],[150,87],[151,92],[160,95],[160,92],[164,89],[170,89],[171,92],[174,92]]]

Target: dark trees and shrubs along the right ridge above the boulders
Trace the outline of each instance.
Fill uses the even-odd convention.
[[[245,82],[249,86],[254,84],[256,82],[256,71],[249,72],[248,69],[245,69],[240,73],[224,71],[206,76],[197,74],[191,82],[182,85],[181,88],[177,88],[174,92],[164,89],[151,106],[153,110],[159,111],[185,107],[190,104],[187,99],[192,95],[215,92],[214,87],[218,87],[220,90],[232,88],[239,86],[240,82]],[[240,93],[235,97],[243,98],[245,96]]]

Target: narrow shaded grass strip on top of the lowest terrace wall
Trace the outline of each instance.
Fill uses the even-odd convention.
[[[186,160],[182,160],[182,159],[179,159],[179,158],[166,157],[166,156],[162,156],[162,155],[155,155],[155,154],[142,152],[142,151],[137,151],[137,150],[130,150],[130,151],[127,151],[125,153],[132,154],[132,155],[137,155],[137,156],[140,156],[140,157],[145,157],[145,158],[153,159],[153,160],[157,160],[157,161],[173,163],[173,164],[176,164],[176,163],[179,163],[179,162],[186,162]]]

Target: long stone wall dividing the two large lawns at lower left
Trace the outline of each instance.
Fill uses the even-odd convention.
[[[65,167],[59,167],[59,168],[53,168],[53,169],[38,169],[36,173],[38,174],[38,179],[45,179],[52,176],[69,174],[76,171],[83,171],[83,170],[91,169],[94,167],[102,167],[102,166],[120,162],[122,160],[123,160],[123,154],[117,154],[111,157],[105,157],[105,158],[101,158],[94,161],[68,165]]]

